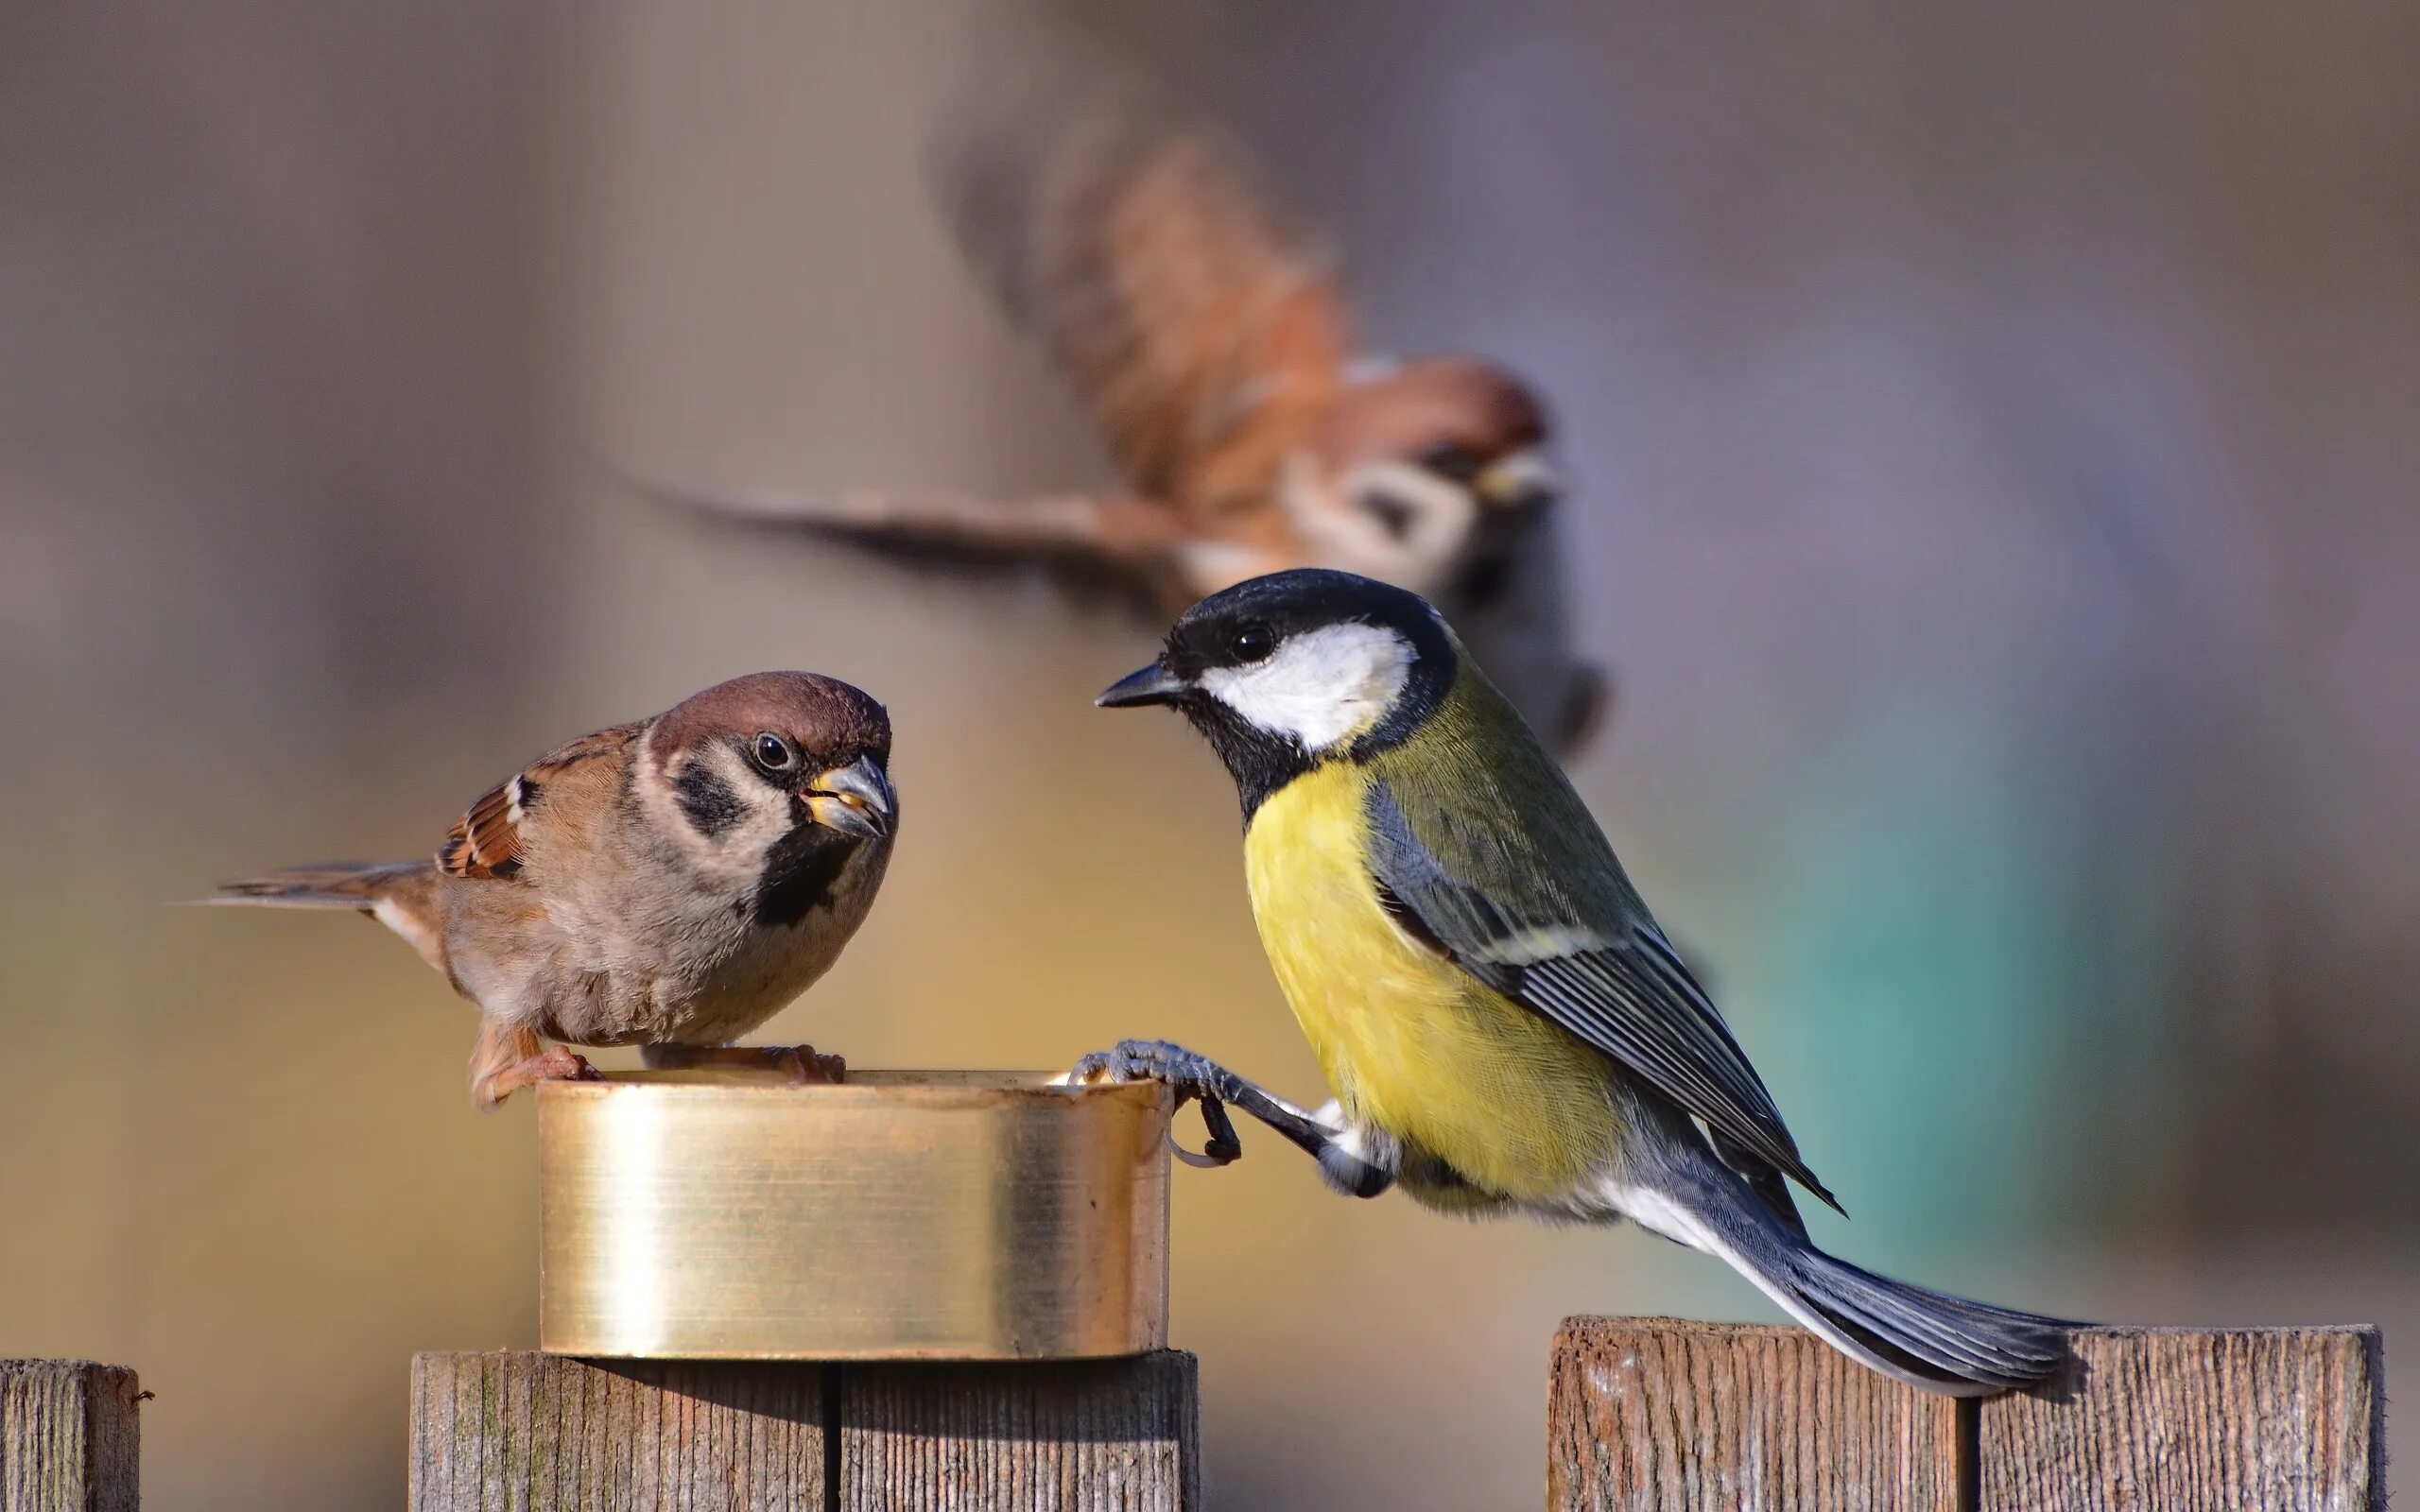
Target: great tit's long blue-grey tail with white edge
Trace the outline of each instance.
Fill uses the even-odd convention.
[[[1619,1198],[1643,1227],[1728,1260],[1786,1314],[1885,1377],[1943,1396],[2040,1384],[2079,1323],[1967,1302],[1837,1260],[1709,1154]]]

